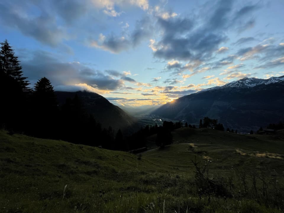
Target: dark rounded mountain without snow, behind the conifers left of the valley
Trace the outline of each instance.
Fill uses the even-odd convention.
[[[100,122],[103,128],[111,126],[115,130],[125,129],[136,125],[136,119],[118,106],[111,104],[103,96],[87,92],[62,92],[55,91],[59,105],[63,105],[67,98],[73,99],[77,94],[83,103],[86,112],[93,114],[96,121]]]

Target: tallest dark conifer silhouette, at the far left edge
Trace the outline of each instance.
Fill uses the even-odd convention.
[[[29,83],[22,76],[20,61],[7,39],[0,44],[0,125],[17,131],[25,126],[28,119],[25,92],[29,91]]]

